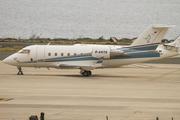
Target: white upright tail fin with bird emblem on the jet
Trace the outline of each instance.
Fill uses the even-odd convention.
[[[150,25],[141,35],[130,45],[148,45],[152,43],[160,43],[169,28],[173,26],[164,24],[153,24]]]

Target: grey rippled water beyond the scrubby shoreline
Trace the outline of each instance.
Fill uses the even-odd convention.
[[[0,0],[0,37],[137,37],[150,24],[177,25],[179,0]]]

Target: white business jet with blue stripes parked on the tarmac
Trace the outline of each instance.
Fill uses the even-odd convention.
[[[163,24],[150,25],[130,46],[120,45],[31,45],[3,60],[17,66],[17,75],[23,75],[21,67],[80,69],[87,77],[91,70],[114,68],[178,54],[179,38],[166,45],[159,45],[169,28]],[[159,45],[159,46],[158,46]]]

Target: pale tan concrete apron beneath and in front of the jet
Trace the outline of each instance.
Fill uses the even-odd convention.
[[[23,68],[0,62],[0,120],[180,119],[180,64],[93,70]],[[6,101],[7,100],[7,101]]]

